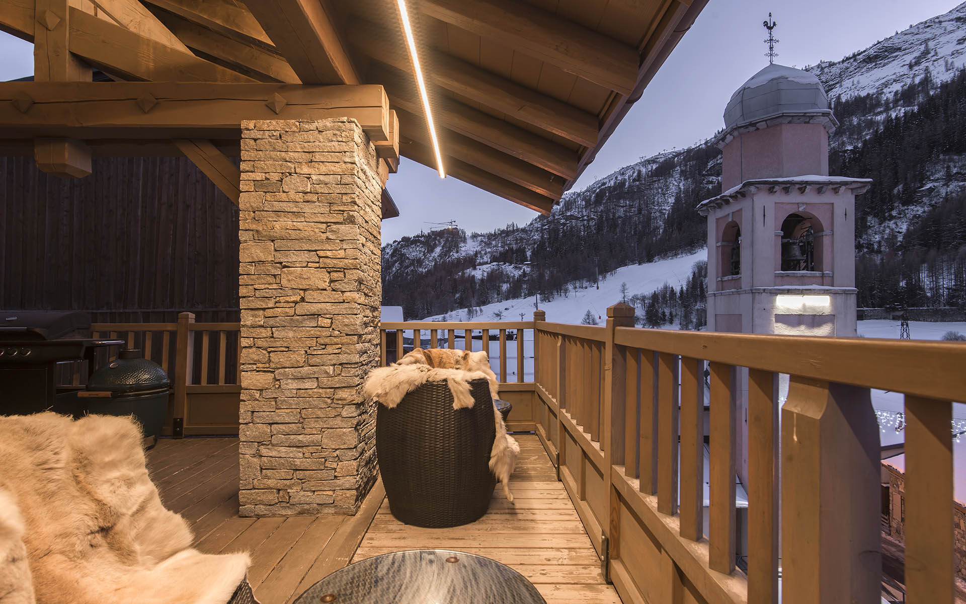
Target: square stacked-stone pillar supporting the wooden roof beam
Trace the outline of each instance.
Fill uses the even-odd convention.
[[[375,481],[381,192],[355,120],[241,123],[241,516],[352,514]]]

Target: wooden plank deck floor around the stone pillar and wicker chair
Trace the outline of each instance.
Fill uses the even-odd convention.
[[[497,488],[486,516],[454,529],[400,523],[389,514],[382,484],[356,516],[240,518],[238,439],[162,440],[148,453],[148,465],[161,500],[185,516],[199,550],[251,554],[248,580],[262,604],[291,602],[349,561],[420,548],[508,564],[549,604],[619,604],[547,453],[535,436],[516,438],[522,450],[512,477],[515,501],[507,502]]]

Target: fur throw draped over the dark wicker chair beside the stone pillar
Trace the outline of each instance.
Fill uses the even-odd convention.
[[[490,383],[490,396],[497,400],[497,375],[490,368],[490,357],[484,351],[417,348],[388,367],[374,369],[366,378],[363,391],[371,399],[392,409],[403,397],[426,382],[446,382],[453,393],[453,409],[469,409],[475,401],[469,393],[469,382],[485,379]],[[510,475],[517,466],[520,445],[506,433],[503,416],[493,408],[497,435],[490,450],[490,472],[497,476],[507,501],[513,501]]]

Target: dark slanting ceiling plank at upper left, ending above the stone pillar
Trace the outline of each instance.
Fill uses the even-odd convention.
[[[247,72],[259,81],[289,84],[298,84],[301,81],[288,61],[261,44],[242,42],[225,36],[178,14],[165,12],[159,18],[192,50],[229,65],[232,69]]]

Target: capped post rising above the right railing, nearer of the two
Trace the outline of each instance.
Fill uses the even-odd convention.
[[[608,534],[608,550],[610,558],[620,555],[620,526],[616,514],[614,491],[611,476],[611,466],[624,465],[624,413],[627,405],[627,360],[623,347],[613,343],[614,330],[617,328],[634,327],[634,306],[617,302],[607,309],[607,331],[604,344],[604,400],[603,407],[604,434],[602,444],[604,449],[604,481],[607,484],[608,506],[607,518],[602,519],[604,530]],[[602,552],[603,554],[603,552]]]

